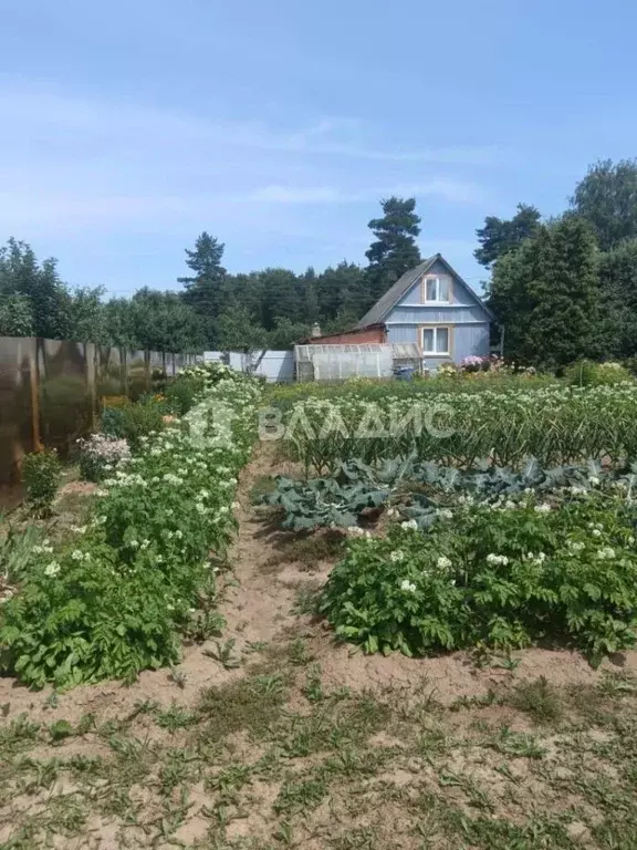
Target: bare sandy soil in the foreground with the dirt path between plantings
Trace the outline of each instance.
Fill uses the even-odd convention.
[[[0,842],[631,848],[637,655],[352,654],[304,613],[333,560],[288,560],[251,505],[278,464],[241,476],[219,641],[126,688],[0,680]]]

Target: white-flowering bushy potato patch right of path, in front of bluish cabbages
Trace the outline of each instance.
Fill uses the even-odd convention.
[[[635,519],[619,497],[552,509],[526,495],[456,509],[427,535],[409,520],[348,541],[321,610],[366,652],[553,640],[599,661],[636,643]]]

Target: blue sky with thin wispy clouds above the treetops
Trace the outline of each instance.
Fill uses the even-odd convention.
[[[416,196],[474,287],[474,230],[564,208],[637,155],[630,0],[6,0],[0,242],[71,284],[177,288],[203,229],[231,271],[364,260]]]

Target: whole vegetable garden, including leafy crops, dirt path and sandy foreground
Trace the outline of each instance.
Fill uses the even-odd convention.
[[[0,848],[635,847],[635,400],[197,367],[104,411],[72,525],[30,458]]]

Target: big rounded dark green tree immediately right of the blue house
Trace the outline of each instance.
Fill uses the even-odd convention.
[[[561,366],[597,356],[598,252],[589,227],[565,216],[541,225],[494,266],[489,303],[504,325],[504,354]]]

